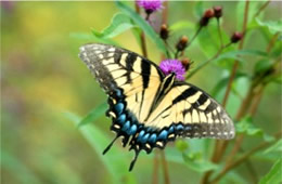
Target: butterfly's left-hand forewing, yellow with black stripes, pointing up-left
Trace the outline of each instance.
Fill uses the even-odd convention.
[[[110,96],[120,89],[127,109],[142,122],[162,82],[162,71],[144,57],[115,47],[86,44],[80,51],[101,87]]]

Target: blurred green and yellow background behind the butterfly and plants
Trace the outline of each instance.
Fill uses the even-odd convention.
[[[133,8],[132,2],[129,4]],[[210,8],[215,4],[223,6],[222,26],[227,35],[231,36],[241,29],[238,27],[238,10],[234,9],[238,2],[204,2],[203,6]],[[169,2],[169,24],[179,19],[196,24],[198,17],[193,13],[195,9],[196,2]],[[106,101],[106,95],[78,58],[78,48],[88,42],[95,42],[91,36],[91,28],[102,30],[117,12],[119,10],[114,2],[1,2],[3,183],[113,182],[101,160],[101,153],[90,146],[75,123],[66,118],[65,111],[84,117],[93,107]],[[155,15],[155,19],[158,16],[159,13]],[[281,18],[281,2],[271,2],[266,9],[265,19],[278,18]],[[154,23],[158,25],[157,21]],[[182,30],[180,35],[187,34],[192,37],[194,31],[195,29]],[[172,35],[171,40],[177,41],[178,37],[179,35]],[[113,40],[128,50],[141,53],[129,30]],[[258,37],[256,32],[245,42],[245,48],[256,50],[265,50],[267,40]],[[158,63],[161,54],[150,40],[148,48],[149,57]],[[207,58],[204,52],[197,45],[188,51],[195,65]],[[243,70],[251,70],[254,65],[252,60],[242,65]],[[217,78],[223,75],[223,69],[209,65],[193,76],[190,82],[210,93],[218,82]],[[242,91],[246,91],[247,83],[241,83]],[[219,102],[222,101],[222,94],[216,96]],[[232,116],[239,104],[235,100],[230,100],[228,111]],[[281,86],[268,86],[255,122],[269,134],[281,129]],[[106,137],[113,137],[108,131],[110,119],[102,116],[93,124]],[[248,139],[243,146],[247,149],[259,141],[261,140],[258,137]],[[192,147],[198,145],[197,149],[201,152],[207,152],[204,149],[206,144],[214,144],[214,141],[202,140],[189,142]],[[114,146],[120,147],[120,144]],[[171,144],[170,149],[166,152],[174,152],[174,147]],[[126,160],[124,165],[127,168],[133,154],[128,154],[128,150],[123,148],[118,148],[117,152]],[[153,157],[144,155],[141,155],[130,173],[132,176],[126,179],[126,182],[151,182]],[[174,152],[172,155],[181,158],[179,152]],[[259,174],[269,170],[272,165],[271,159],[269,160],[255,160]],[[169,161],[169,171],[171,183],[196,183],[201,178],[201,173],[174,159]],[[243,178],[242,182],[247,183],[248,180],[244,180],[247,178],[244,167],[236,168],[236,171]]]

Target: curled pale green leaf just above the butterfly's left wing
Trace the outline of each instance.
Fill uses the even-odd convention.
[[[92,29],[92,34],[98,38],[113,38],[132,27],[134,25],[129,16],[124,13],[117,13],[113,16],[110,26],[101,32]]]

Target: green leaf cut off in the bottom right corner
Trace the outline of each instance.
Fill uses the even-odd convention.
[[[262,176],[259,184],[279,184],[282,182],[282,159],[278,159],[270,171]]]

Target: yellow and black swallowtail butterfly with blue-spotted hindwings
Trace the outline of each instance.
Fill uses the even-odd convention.
[[[108,95],[106,116],[116,136],[103,154],[123,137],[123,146],[134,150],[129,171],[141,150],[163,149],[177,137],[234,137],[234,124],[219,103],[148,58],[100,43],[82,45],[79,57]]]

